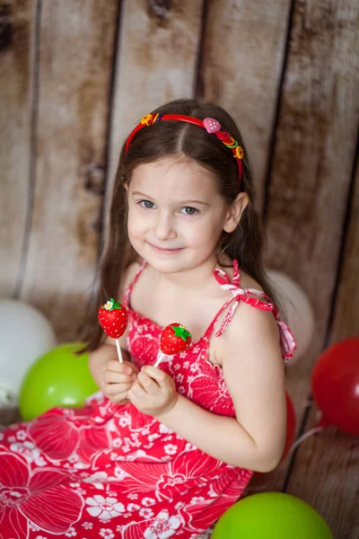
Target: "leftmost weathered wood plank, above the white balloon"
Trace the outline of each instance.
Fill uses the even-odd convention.
[[[31,206],[36,0],[0,2],[0,296],[16,296]]]

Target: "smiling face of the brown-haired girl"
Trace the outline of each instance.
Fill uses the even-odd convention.
[[[164,273],[211,261],[231,211],[215,190],[215,173],[179,156],[140,164],[128,186],[128,236],[136,252]],[[239,219],[238,219],[239,220]]]

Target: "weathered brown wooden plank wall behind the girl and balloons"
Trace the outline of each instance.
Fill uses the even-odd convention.
[[[0,0],[1,296],[73,339],[127,132],[162,102],[217,102],[252,157],[267,267],[314,306],[311,350],[288,368],[309,429],[316,358],[359,331],[357,26],[355,0]],[[328,429],[265,488],[309,501],[336,537],[359,535],[358,449]]]

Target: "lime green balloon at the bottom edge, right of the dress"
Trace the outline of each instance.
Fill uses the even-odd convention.
[[[253,494],[227,509],[211,539],[333,539],[328,524],[302,499],[281,492]]]

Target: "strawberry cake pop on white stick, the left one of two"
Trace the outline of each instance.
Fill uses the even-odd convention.
[[[119,337],[124,334],[128,323],[127,308],[125,305],[117,303],[113,297],[104,305],[101,305],[98,313],[98,319],[101,323],[102,330],[109,337],[116,340],[116,348],[118,349],[118,361],[123,363],[121,347],[119,346]]]

